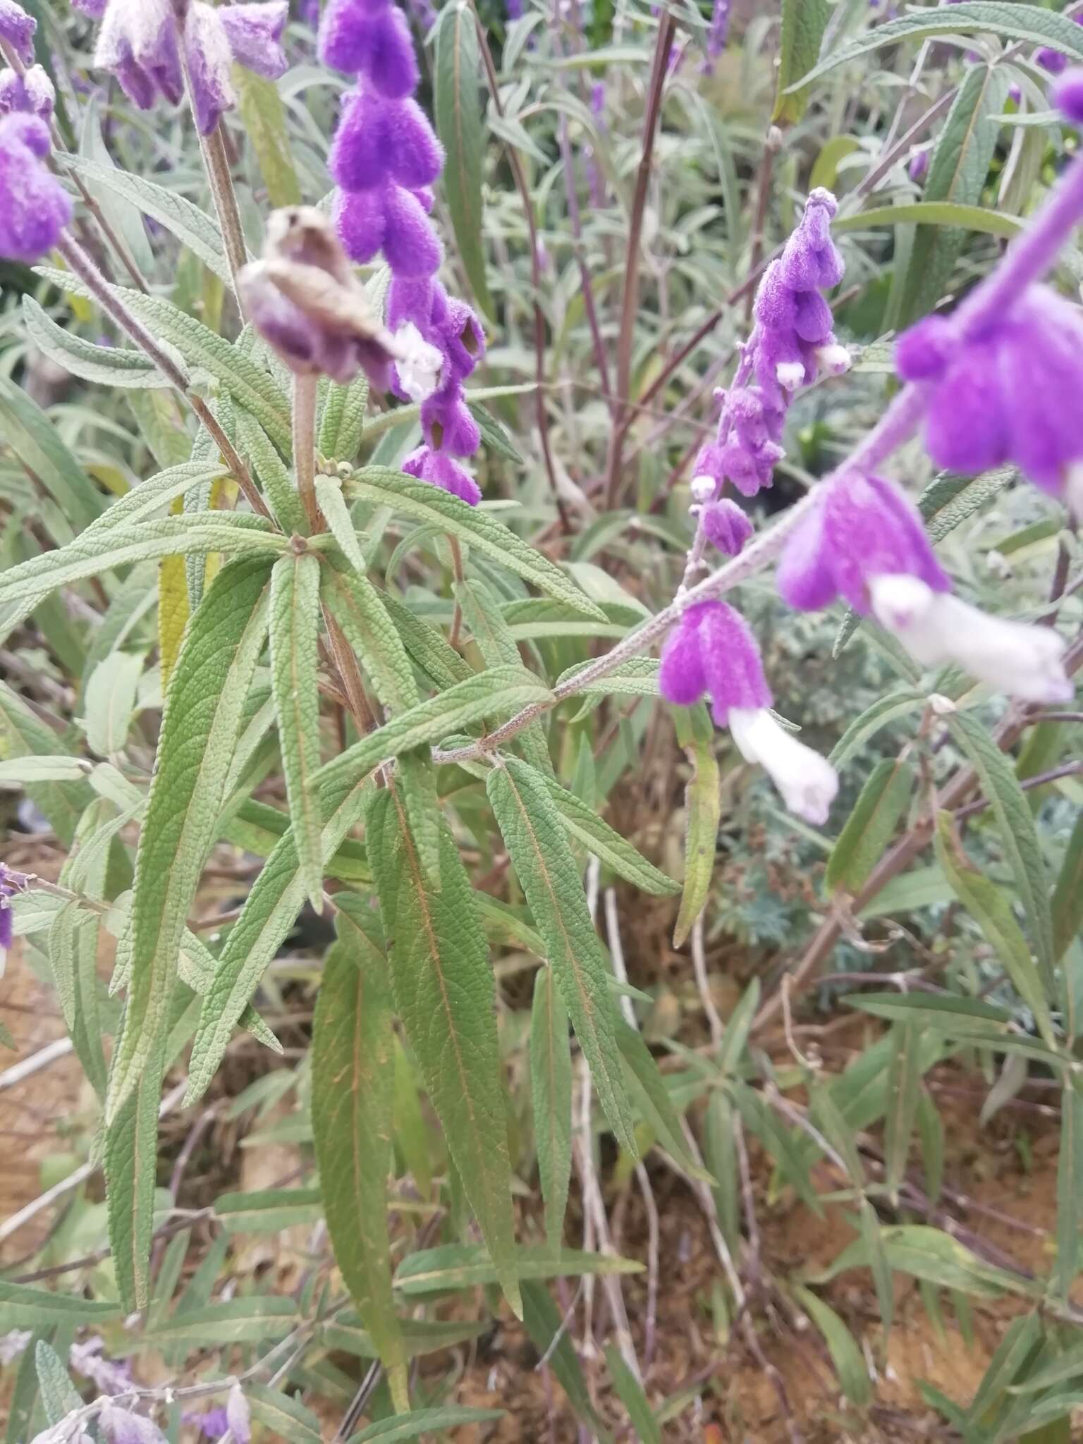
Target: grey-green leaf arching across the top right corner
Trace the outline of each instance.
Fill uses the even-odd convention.
[[[1083,36],[1073,33],[1073,22],[1063,14],[1035,4],[1015,4],[1014,0],[965,0],[963,4],[914,10],[898,20],[869,26],[848,45],[832,51],[819,65],[803,75],[796,85],[804,87],[819,79],[836,65],[846,65],[862,55],[897,45],[900,40],[926,40],[933,35],[975,35],[988,32],[1004,40],[1024,40],[1027,45],[1048,46],[1077,64],[1083,62]],[[794,88],[794,87],[791,87]]]

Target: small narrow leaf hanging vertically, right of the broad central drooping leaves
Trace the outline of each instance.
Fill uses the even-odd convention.
[[[572,1050],[567,1009],[553,983],[552,967],[539,967],[534,976],[530,1102],[537,1173],[546,1204],[546,1239],[553,1249],[559,1249],[572,1177]]]

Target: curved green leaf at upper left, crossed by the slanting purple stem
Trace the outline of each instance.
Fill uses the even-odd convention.
[[[35,270],[61,290],[94,300],[85,283],[71,271],[52,270],[49,266],[38,266]],[[221,381],[224,390],[263,426],[283,456],[290,453],[286,396],[271,375],[258,367],[251,357],[217,335],[201,321],[179,310],[163,296],[144,296],[143,292],[123,286],[110,286],[110,290],[150,326],[155,336],[175,345],[191,367],[209,371]]]

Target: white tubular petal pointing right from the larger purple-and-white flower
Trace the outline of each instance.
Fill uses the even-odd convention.
[[[923,667],[953,661],[1022,702],[1070,702],[1064,638],[1051,627],[986,617],[915,576],[877,576],[872,611]]]

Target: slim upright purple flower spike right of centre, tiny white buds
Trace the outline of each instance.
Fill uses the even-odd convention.
[[[718,495],[729,481],[745,497],[771,485],[781,446],[786,412],[793,394],[829,371],[851,364],[832,329],[832,313],[820,290],[838,286],[842,257],[830,235],[836,211],[830,191],[816,189],[804,214],[760,283],[755,326],[742,348],[729,391],[721,391],[722,412],[715,440],[703,446],[693,468],[693,488],[703,478]]]

